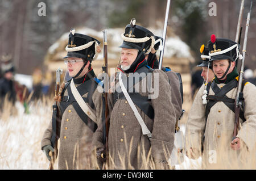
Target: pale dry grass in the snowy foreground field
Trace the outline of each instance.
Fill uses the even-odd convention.
[[[24,113],[24,107],[21,103],[15,103],[12,106],[5,101],[3,111],[0,112],[0,169],[48,169],[49,161],[40,148],[40,141],[43,133],[48,127],[52,114],[52,100],[46,97],[37,102],[30,102],[29,114]],[[181,129],[185,131],[185,121],[187,120],[188,110],[191,102],[187,102],[185,115],[181,121],[183,124]],[[126,139],[125,139],[126,140]],[[131,140],[132,142],[133,140]],[[130,153],[131,142],[125,142],[126,153]],[[76,149],[76,154],[80,156]],[[163,165],[156,165],[149,154],[138,148],[138,159],[142,160],[141,169],[172,169],[172,167],[164,167]],[[167,155],[168,151],[166,151]],[[226,146],[222,146],[217,154],[217,163],[210,167],[205,167],[204,159],[199,157],[196,160],[184,158],[184,162],[176,165],[176,169],[256,169],[255,153],[248,153],[242,150],[238,155],[240,161],[237,161],[237,155],[221,154],[226,153]],[[94,155],[85,159],[86,165],[81,165],[77,162],[76,169],[101,169],[98,165]],[[129,161],[123,159],[122,169],[134,169]],[[74,159],[75,160],[75,159]],[[126,163],[127,166],[126,166]],[[201,164],[203,163],[203,165]],[[109,163],[104,165],[105,169],[115,169],[114,158],[109,158]],[[57,160],[55,162],[55,169],[57,169]]]

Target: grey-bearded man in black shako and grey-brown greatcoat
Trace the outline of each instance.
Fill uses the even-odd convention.
[[[145,169],[150,153],[160,166],[167,163],[174,146],[175,111],[168,77],[147,67],[144,54],[154,47],[152,32],[132,19],[121,36],[120,72],[108,95],[110,161],[115,169]],[[101,138],[97,148],[102,148]]]

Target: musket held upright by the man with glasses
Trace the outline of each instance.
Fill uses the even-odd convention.
[[[60,89],[60,75],[62,73],[62,70],[59,68],[56,70],[56,84],[55,84],[55,96],[58,95],[59,93],[59,89]],[[51,156],[51,161],[49,163],[49,170],[53,170],[53,165],[54,165],[54,162],[57,158],[57,153],[58,153],[58,150],[57,150],[57,141],[58,141],[58,128],[59,128],[59,125],[58,125],[58,117],[59,117],[59,111],[58,111],[58,108],[57,108],[57,100],[55,99],[53,105],[52,105],[52,137],[51,137],[51,145],[52,145],[52,148],[54,148],[54,152],[52,153],[52,151],[49,151],[49,155]]]

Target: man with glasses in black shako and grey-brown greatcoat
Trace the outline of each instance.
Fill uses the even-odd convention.
[[[69,33],[68,52],[64,63],[71,80],[62,86],[59,92],[59,128],[53,128],[52,123],[46,129],[42,139],[42,149],[54,151],[51,140],[56,131],[60,140],[59,169],[86,169],[93,150],[93,134],[97,129],[97,121],[102,117],[102,95],[97,86],[91,63],[100,52],[100,41],[93,37]]]

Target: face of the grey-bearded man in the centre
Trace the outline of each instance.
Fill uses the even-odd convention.
[[[121,69],[123,70],[128,70],[135,61],[136,57],[138,55],[138,50],[137,49],[127,49],[127,48],[122,48],[121,50]]]

